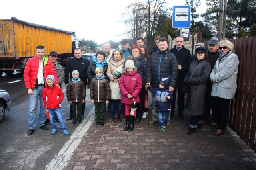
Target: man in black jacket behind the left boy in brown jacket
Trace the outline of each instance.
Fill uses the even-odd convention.
[[[66,86],[68,86],[68,82],[72,78],[72,71],[74,71],[74,70],[78,70],[79,77],[84,82],[84,86],[87,85],[87,69],[90,66],[90,61],[87,59],[84,59],[82,57],[82,54],[83,54],[82,50],[80,48],[76,48],[76,49],[74,49],[75,57],[68,60],[66,67],[64,69]],[[87,88],[89,88],[88,85],[87,85]],[[84,119],[84,111],[85,111],[85,102],[82,104],[82,119]],[[72,110],[70,107],[70,116],[68,117],[67,120],[72,120],[72,119],[73,119]]]

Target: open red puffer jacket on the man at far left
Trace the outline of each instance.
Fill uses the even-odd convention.
[[[39,68],[39,59],[37,58],[37,55],[36,55],[35,57],[32,57],[31,59],[29,59],[25,66],[23,77],[24,77],[24,82],[27,89],[32,88],[33,90],[35,88],[38,68]],[[44,84],[46,85],[47,85],[46,77],[50,74],[54,76],[55,83],[59,84],[58,77],[56,75],[55,68],[52,64],[52,61],[50,61],[48,56],[44,55]]]

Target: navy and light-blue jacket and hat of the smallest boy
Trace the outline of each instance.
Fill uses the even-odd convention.
[[[149,91],[156,95],[157,111],[170,111],[170,102],[172,101],[172,92],[169,91],[170,80],[169,78],[165,78],[163,82],[164,88],[153,88],[150,86]],[[167,96],[170,96],[170,99],[168,99]]]

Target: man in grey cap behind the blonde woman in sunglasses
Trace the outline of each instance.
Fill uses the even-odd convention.
[[[207,50],[207,56],[205,59],[208,60],[211,65],[211,72],[219,57],[218,43],[219,41],[217,39],[210,39],[208,41],[208,50]],[[207,91],[206,91],[206,97],[205,97],[206,110],[205,110],[205,114],[201,116],[202,124],[211,122],[211,92],[212,92],[212,82],[208,78]],[[216,125],[217,125],[216,120],[212,120],[212,123],[210,124],[210,126],[215,127]]]

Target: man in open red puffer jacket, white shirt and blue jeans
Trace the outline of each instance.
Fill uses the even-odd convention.
[[[58,85],[58,78],[52,61],[45,54],[44,46],[36,47],[36,56],[28,60],[24,70],[24,82],[28,89],[29,96],[29,112],[28,112],[28,135],[32,135],[36,129],[37,104],[39,99],[40,113],[38,117],[39,127],[48,130],[46,127],[46,113],[42,98],[42,90],[46,86],[46,77],[52,74],[55,78],[55,85]]]

